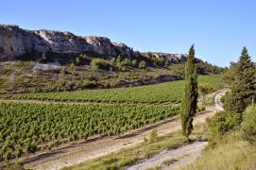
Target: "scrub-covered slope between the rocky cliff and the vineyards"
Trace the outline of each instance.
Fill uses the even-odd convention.
[[[179,80],[184,76],[182,60],[119,57],[103,58],[95,55],[77,55],[61,62],[43,56],[43,59],[1,61],[0,93],[47,93],[106,89],[155,84]],[[45,58],[45,59],[44,59]],[[50,58],[50,59],[47,59]],[[198,60],[200,75],[220,74],[224,68]]]

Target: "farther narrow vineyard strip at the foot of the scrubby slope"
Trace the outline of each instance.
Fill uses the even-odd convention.
[[[199,76],[199,83],[209,83],[213,90],[221,88],[220,76]],[[183,91],[184,81],[172,81],[156,85],[132,88],[86,90],[60,93],[26,93],[5,94],[5,99],[35,99],[47,101],[70,102],[109,102],[109,103],[179,103]]]

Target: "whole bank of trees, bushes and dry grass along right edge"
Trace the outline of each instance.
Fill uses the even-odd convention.
[[[208,149],[184,169],[256,169],[256,67],[244,47],[223,79],[230,86],[224,111],[208,123]]]

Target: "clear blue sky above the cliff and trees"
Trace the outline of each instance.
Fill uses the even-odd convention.
[[[0,23],[104,36],[139,51],[187,53],[228,66],[256,60],[255,0],[3,0]]]

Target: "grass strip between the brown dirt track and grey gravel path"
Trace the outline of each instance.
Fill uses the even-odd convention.
[[[204,124],[195,127],[195,132],[191,135],[192,139],[196,140],[197,133],[200,133],[198,131],[200,131],[202,126],[204,126]],[[158,140],[154,143],[137,144],[136,146],[94,160],[85,161],[75,166],[64,167],[63,170],[119,169],[136,161],[151,158],[162,150],[176,149],[185,144],[188,144],[188,140],[182,136],[181,130],[178,130],[168,135],[158,137]]]

